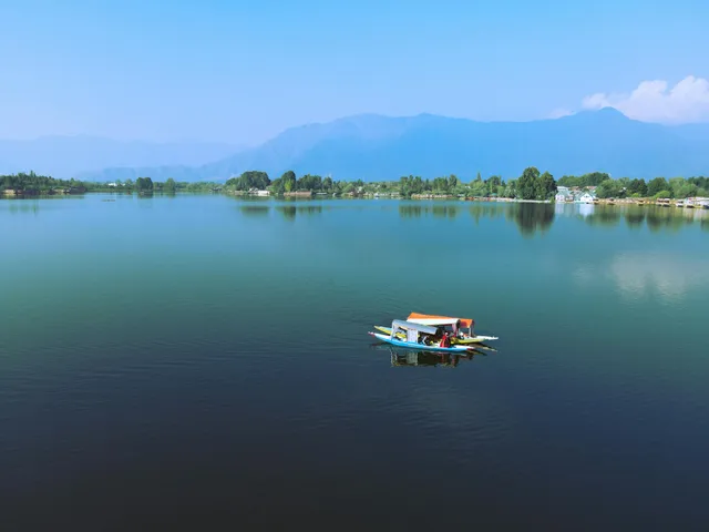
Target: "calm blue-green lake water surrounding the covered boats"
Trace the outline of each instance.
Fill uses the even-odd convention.
[[[700,530],[709,212],[0,201],[4,530]],[[367,335],[472,317],[496,352]]]

